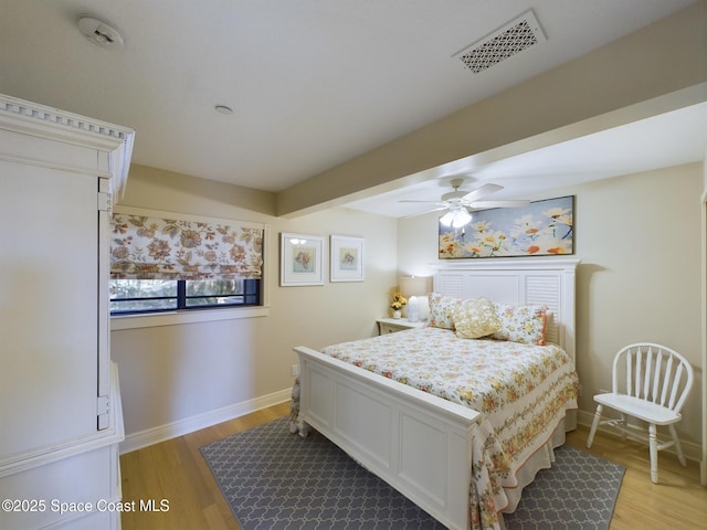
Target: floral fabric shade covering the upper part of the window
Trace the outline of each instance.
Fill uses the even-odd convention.
[[[258,279],[262,227],[114,213],[110,277]]]

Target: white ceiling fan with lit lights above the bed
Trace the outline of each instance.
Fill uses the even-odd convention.
[[[432,210],[426,210],[422,213],[430,213],[441,210],[449,210],[442,218],[440,218],[440,222],[445,226],[454,226],[458,229],[464,226],[472,220],[472,214],[469,210],[484,210],[488,208],[518,208],[525,206],[529,201],[482,201],[482,199],[486,195],[495,193],[504,189],[503,186],[498,184],[484,184],[479,188],[476,188],[473,191],[464,191],[460,190],[462,184],[464,183],[464,179],[453,179],[450,181],[454,191],[450,191],[444,193],[439,201],[414,201],[414,200],[403,200],[399,202],[416,202],[416,203],[430,203],[436,204],[436,208]],[[414,215],[422,215],[422,213],[416,213]]]

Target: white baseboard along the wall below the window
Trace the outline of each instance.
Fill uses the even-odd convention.
[[[147,447],[148,445],[158,444],[167,439],[176,438],[177,436],[183,436],[184,434],[193,433],[194,431],[210,427],[218,423],[228,422],[229,420],[260,411],[261,409],[284,403],[289,401],[291,395],[292,389],[285,389],[272,394],[255,398],[254,400],[234,403],[222,409],[215,409],[177,422],[127,434],[125,436],[125,441],[120,443],[120,454],[124,455],[126,453]]]

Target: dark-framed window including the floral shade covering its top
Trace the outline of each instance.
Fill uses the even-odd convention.
[[[116,209],[110,314],[263,304],[265,225]]]

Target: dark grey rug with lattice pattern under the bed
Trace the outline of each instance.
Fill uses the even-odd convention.
[[[289,434],[284,417],[201,447],[243,530],[444,529],[327,438]],[[557,452],[506,515],[508,530],[606,529],[624,468]]]

